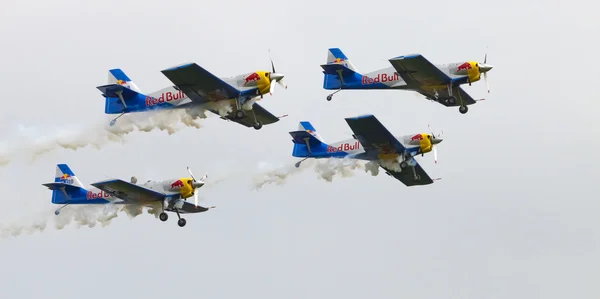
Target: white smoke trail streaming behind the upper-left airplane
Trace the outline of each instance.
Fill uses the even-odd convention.
[[[225,108],[220,108],[225,109]],[[127,114],[119,118],[114,126],[109,121],[88,126],[62,126],[53,129],[33,128],[20,125],[12,139],[0,144],[0,166],[12,162],[19,156],[35,161],[40,156],[56,149],[78,150],[91,146],[101,149],[108,143],[124,143],[125,136],[134,130],[176,133],[182,123],[185,127],[201,128],[198,119],[205,119],[206,109],[201,106],[190,109]]]

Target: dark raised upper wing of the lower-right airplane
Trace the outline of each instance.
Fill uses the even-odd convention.
[[[346,118],[367,154],[402,153],[406,149],[373,115]]]

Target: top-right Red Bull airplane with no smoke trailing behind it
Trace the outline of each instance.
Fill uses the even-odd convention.
[[[362,74],[342,50],[330,48],[327,63],[321,65],[325,74],[323,88],[335,90],[327,96],[327,100],[331,101],[334,94],[344,89],[410,90],[446,107],[460,106],[458,110],[465,114],[469,111],[468,105],[484,99],[474,100],[460,85],[468,83],[471,86],[483,74],[490,92],[487,73],[493,66],[487,64],[487,54],[483,63],[466,61],[434,65],[421,54],[399,56],[389,59],[389,62],[391,67]]]

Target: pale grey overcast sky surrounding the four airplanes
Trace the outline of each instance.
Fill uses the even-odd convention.
[[[170,84],[160,70],[183,62],[218,76],[268,70],[268,49],[289,88],[261,105],[289,117],[255,131],[210,115],[200,129],[11,158],[0,225],[47,227],[0,239],[0,297],[598,298],[597,11],[587,1],[7,2],[0,150],[106,122],[95,87],[111,68],[151,92]],[[483,80],[465,86],[486,97],[466,115],[405,91],[327,102],[319,64],[330,47],[362,72],[409,53],[482,61],[487,47],[491,94]],[[442,180],[407,188],[359,169],[327,182],[307,167],[253,190],[264,167],[295,161],[288,132],[299,121],[335,141],[360,114],[395,135],[443,130],[439,163],[418,158]],[[58,230],[41,186],[57,163],[84,184],[190,166],[209,174],[200,195],[217,209],[184,228],[173,214],[119,214]]]

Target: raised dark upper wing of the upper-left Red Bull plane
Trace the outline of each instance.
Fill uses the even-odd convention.
[[[238,89],[196,63],[176,66],[161,72],[194,102],[232,99],[240,94]]]

